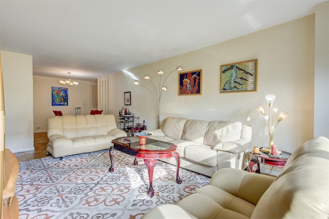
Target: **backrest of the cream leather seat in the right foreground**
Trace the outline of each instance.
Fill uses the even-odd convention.
[[[328,218],[329,140],[316,137],[291,154],[251,218]]]

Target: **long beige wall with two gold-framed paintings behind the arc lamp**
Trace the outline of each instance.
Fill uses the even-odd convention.
[[[201,120],[232,120],[251,124],[251,147],[268,145],[268,129],[255,110],[268,93],[277,95],[279,109],[290,113],[274,135],[279,149],[292,152],[313,137],[314,113],[314,14],[295,21],[261,30],[210,47],[171,57],[149,65],[109,75],[110,113],[118,114],[123,106],[123,92],[132,92],[130,110],[149,129],[156,128],[156,104],[152,94],[133,84],[137,78],[144,86],[152,84],[143,78],[150,74],[158,87],[158,69],[170,72],[177,65],[183,71],[203,69],[202,95],[178,96],[178,73],[167,79],[168,90],[162,94],[160,121],[167,116]],[[220,93],[220,66],[258,59],[257,92]],[[165,75],[166,76],[166,75]]]

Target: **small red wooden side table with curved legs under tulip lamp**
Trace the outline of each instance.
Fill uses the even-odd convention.
[[[259,166],[260,163],[273,167],[284,167],[289,156],[291,155],[291,153],[285,151],[281,151],[281,154],[279,154],[279,156],[271,156],[263,151],[260,151],[259,153],[254,153],[253,151],[250,151],[249,153],[251,153],[249,169],[250,172],[252,172],[252,167],[256,165],[257,169],[255,173],[261,173],[261,169]]]

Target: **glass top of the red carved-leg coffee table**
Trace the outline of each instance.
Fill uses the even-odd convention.
[[[117,141],[116,144],[118,145],[134,150],[165,151],[171,150],[174,146],[170,143],[160,142],[150,138],[147,138],[145,145],[139,145],[139,137],[121,137],[114,141]]]

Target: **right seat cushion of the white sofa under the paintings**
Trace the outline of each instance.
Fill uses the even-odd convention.
[[[184,156],[190,161],[207,165],[217,166],[217,152],[206,145],[189,145],[185,147]]]

